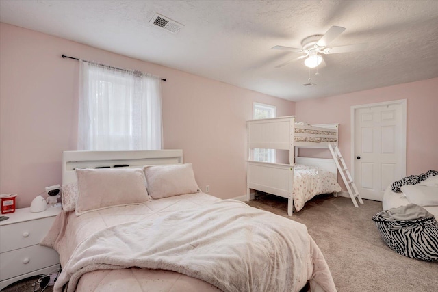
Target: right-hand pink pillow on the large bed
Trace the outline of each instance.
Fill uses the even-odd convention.
[[[149,195],[153,199],[199,192],[192,163],[158,165],[144,168]]]

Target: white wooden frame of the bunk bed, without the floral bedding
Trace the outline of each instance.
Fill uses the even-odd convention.
[[[338,138],[339,124],[298,125],[295,116],[249,120],[248,167],[246,170],[246,200],[250,200],[250,189],[264,191],[288,199],[287,214],[294,210],[293,179],[295,163],[318,166],[333,172],[337,177],[337,165],[333,159],[298,157],[298,148],[328,148],[337,142],[296,142],[296,137]],[[335,135],[295,133],[295,129],[330,131]],[[254,161],[253,149],[267,148],[289,150],[289,164]]]

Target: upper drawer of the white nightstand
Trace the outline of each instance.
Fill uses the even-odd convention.
[[[0,252],[9,252],[39,244],[49,232],[54,220],[55,217],[45,217],[1,226]]]

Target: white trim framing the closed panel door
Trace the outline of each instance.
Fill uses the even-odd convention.
[[[381,105],[402,105],[402,152],[404,157],[401,163],[402,174],[406,176],[406,156],[407,156],[407,100],[398,99],[396,101],[383,101],[381,103],[370,103],[368,105],[352,105],[350,109],[350,123],[351,123],[351,133],[350,133],[350,150],[351,150],[351,176],[355,178],[355,111],[356,109],[361,109],[364,107],[379,107]]]

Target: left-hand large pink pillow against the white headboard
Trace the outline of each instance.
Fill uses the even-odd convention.
[[[149,200],[141,168],[76,169],[76,215]]]

